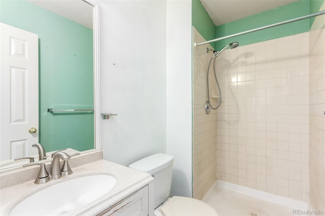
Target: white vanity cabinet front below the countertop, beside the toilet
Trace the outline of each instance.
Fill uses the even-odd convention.
[[[148,214],[148,186],[145,186],[106,209],[99,216],[142,216]]]

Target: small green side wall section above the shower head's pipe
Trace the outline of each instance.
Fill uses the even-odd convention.
[[[206,41],[216,38],[215,25],[199,0],[192,1],[192,25],[200,32]],[[202,41],[198,41],[200,43]],[[215,42],[210,43],[215,49]]]

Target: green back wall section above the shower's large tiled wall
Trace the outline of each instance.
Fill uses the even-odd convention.
[[[283,7],[216,26],[216,38],[221,38],[226,35],[239,33],[242,31],[270,25],[308,14],[309,1],[301,0],[299,2],[291,3]],[[308,19],[244,34],[230,39],[221,40],[217,42],[217,49],[221,49],[224,45],[234,41],[239,42],[240,46],[243,46],[276,38],[282,38],[288,35],[303,33],[306,31],[309,31]]]

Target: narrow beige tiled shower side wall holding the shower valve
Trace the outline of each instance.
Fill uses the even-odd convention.
[[[193,28],[193,41],[206,41],[200,33]],[[217,141],[217,114],[212,110],[209,115],[205,113],[207,101],[207,68],[212,52],[207,53],[210,45],[193,48],[193,197],[202,199],[216,181],[216,141]],[[210,89],[216,89],[212,70],[209,73]],[[210,92],[211,94],[211,92]],[[211,99],[214,105],[217,99]]]

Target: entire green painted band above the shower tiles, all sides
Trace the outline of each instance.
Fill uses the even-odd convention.
[[[227,35],[318,12],[323,2],[324,0],[300,0],[283,7],[215,26],[201,2],[199,0],[192,0],[192,25],[201,33],[206,41],[209,41],[215,38],[221,38]],[[216,50],[219,50],[224,45],[234,41],[238,41],[240,46],[243,46],[303,33],[309,31],[313,20],[314,18],[305,19],[244,34],[238,37],[215,42],[216,44],[212,44],[212,46]],[[214,34],[211,32],[212,30],[215,30]]]

